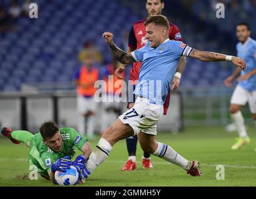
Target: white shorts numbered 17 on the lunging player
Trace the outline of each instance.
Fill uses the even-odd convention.
[[[156,135],[156,123],[163,116],[163,105],[149,103],[149,99],[137,97],[133,108],[119,116],[123,124],[129,124],[134,135],[140,131]]]

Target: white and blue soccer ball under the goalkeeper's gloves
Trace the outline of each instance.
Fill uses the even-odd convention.
[[[78,172],[73,165],[66,172],[57,170],[54,175],[58,185],[75,185],[78,182]]]

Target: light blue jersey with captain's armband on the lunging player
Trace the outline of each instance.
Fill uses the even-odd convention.
[[[163,104],[173,81],[181,56],[189,56],[192,48],[183,42],[164,41],[156,49],[149,42],[131,53],[137,62],[142,61],[135,95],[148,98],[150,103]]]

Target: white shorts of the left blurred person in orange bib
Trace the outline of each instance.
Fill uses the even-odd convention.
[[[82,95],[77,95],[77,111],[79,114],[85,114],[88,111],[96,113],[97,104],[92,96],[92,98],[85,98]]]

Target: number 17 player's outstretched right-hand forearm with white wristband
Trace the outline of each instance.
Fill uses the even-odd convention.
[[[189,57],[197,58],[201,60],[201,62],[219,62],[219,61],[226,61],[227,55],[215,53],[215,52],[206,52],[206,51],[199,51],[196,49],[192,49],[189,53]],[[232,56],[230,59],[234,65],[240,67],[241,70],[245,70],[246,64],[245,60],[240,57]]]

